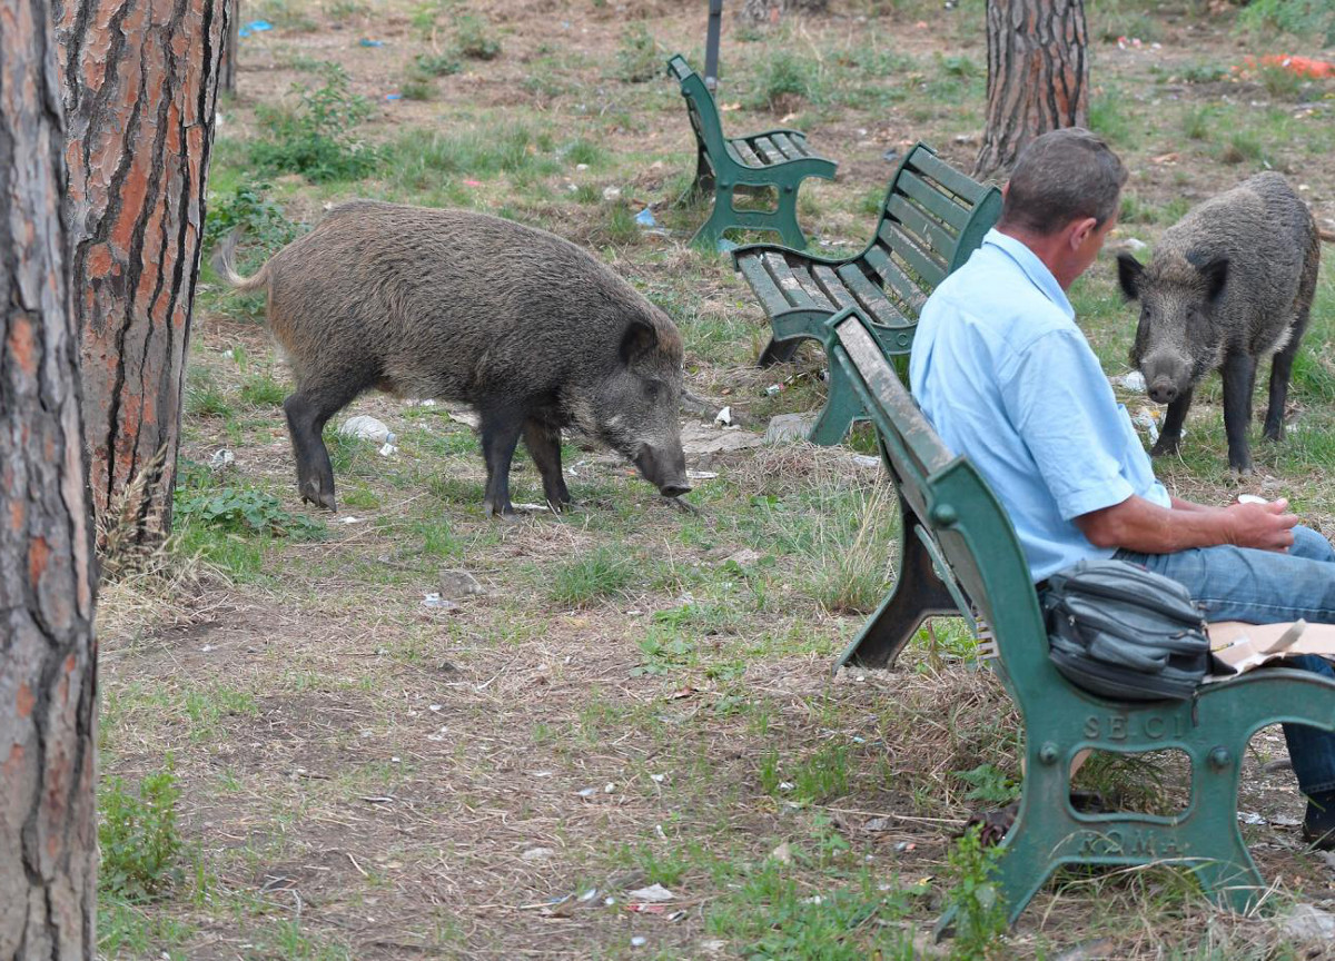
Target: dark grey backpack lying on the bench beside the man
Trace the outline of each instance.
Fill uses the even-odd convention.
[[[1071,683],[1115,701],[1187,699],[1211,669],[1200,607],[1140,565],[1084,559],[1043,597],[1049,657]]]

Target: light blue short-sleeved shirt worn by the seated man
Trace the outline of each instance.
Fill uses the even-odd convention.
[[[932,294],[909,378],[941,439],[1001,499],[1035,582],[1115,553],[1089,543],[1072,518],[1132,494],[1172,505],[1071,302],[1015,238],[989,231]]]

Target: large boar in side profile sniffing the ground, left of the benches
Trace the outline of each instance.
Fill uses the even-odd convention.
[[[471,404],[489,515],[514,514],[510,462],[523,438],[553,510],[570,503],[561,428],[629,458],[665,495],[690,490],[673,322],[567,240],[457,210],[354,202],[275,254],[238,290],[268,291],[268,324],[296,378],[283,403],[303,501],[335,509],[324,423],[376,387]]]

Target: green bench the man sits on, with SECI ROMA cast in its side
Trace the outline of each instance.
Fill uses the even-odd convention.
[[[876,324],[849,308],[829,328],[832,364],[880,434],[901,513],[898,581],[838,665],[892,666],[924,618],[937,615],[963,614],[995,646],[989,663],[999,666],[1024,723],[1024,782],[997,878],[1012,924],[1061,865],[1177,865],[1220,906],[1259,905],[1267,886],[1238,825],[1247,742],[1278,722],[1335,730],[1335,682],[1264,669],[1203,685],[1191,701],[1152,703],[1119,703],[1069,683],[1048,658],[1039,595],[996,495],[932,430],[885,356]],[[1069,771],[1085,749],[1183,751],[1191,763],[1188,806],[1171,817],[1077,812]]]

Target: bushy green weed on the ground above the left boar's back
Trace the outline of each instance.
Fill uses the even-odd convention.
[[[366,97],[352,93],[338,64],[320,67],[322,87],[296,84],[300,105],[292,112],[258,109],[268,136],[251,144],[251,162],[276,174],[300,174],[314,183],[358,180],[371,172],[378,151],[352,131],[371,112]]]

